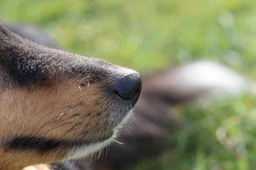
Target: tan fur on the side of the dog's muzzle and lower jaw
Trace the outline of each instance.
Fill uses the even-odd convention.
[[[111,119],[106,111],[113,106],[98,89],[97,84],[81,89],[78,81],[69,80],[33,91],[5,91],[0,95],[0,139],[20,135],[64,140],[110,137]],[[0,141],[0,167],[6,170],[60,161],[66,154],[60,148],[47,154],[36,150],[8,151],[4,142]]]

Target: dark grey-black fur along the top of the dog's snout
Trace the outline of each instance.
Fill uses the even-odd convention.
[[[12,33],[0,24],[0,82],[35,87],[65,79],[112,82],[117,66],[38,45]],[[13,83],[10,83],[13,84]],[[111,83],[110,83],[111,84]],[[2,87],[8,84],[1,84]]]

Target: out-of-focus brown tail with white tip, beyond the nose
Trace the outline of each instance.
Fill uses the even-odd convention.
[[[199,61],[151,76],[143,90],[148,96],[181,103],[238,95],[248,90],[248,84],[248,80],[220,64]]]

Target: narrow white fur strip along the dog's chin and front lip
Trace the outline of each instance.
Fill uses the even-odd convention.
[[[103,150],[106,146],[110,145],[112,142],[117,142],[121,145],[123,143],[118,142],[116,138],[118,137],[119,129],[123,127],[123,125],[127,122],[129,122],[129,119],[133,116],[133,109],[128,112],[128,114],[125,116],[123,121],[118,124],[114,128],[114,133],[112,137],[106,139],[103,142],[98,143],[91,143],[90,145],[84,145],[84,146],[73,146],[72,149],[68,152],[67,157],[63,159],[63,161],[67,161],[70,159],[79,159],[82,157],[86,157],[88,155],[93,155],[95,152]]]

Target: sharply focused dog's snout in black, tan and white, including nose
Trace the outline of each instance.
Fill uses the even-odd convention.
[[[136,71],[41,46],[0,23],[0,169],[102,150],[132,116],[141,89]],[[26,169],[33,168],[40,167]]]

